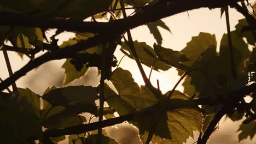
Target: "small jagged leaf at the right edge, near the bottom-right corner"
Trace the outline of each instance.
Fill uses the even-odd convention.
[[[240,131],[240,130],[242,132],[238,135],[239,142],[241,140],[247,139],[248,136],[250,136],[250,139],[252,140],[256,133],[256,121],[254,120],[248,124],[242,123],[237,131]]]

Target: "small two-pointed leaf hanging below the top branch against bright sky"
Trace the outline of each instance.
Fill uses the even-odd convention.
[[[168,26],[166,26],[165,22],[163,22],[162,20],[149,22],[149,23],[147,23],[147,26],[148,26],[150,33],[153,34],[153,36],[156,40],[156,43],[158,43],[158,44],[162,44],[162,35],[158,29],[158,26],[166,29],[167,31],[169,31],[171,33],[170,28]]]

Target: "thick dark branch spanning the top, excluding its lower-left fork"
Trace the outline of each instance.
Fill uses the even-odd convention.
[[[65,31],[77,32],[104,32],[106,29],[131,29],[148,22],[153,22],[167,16],[182,13],[187,10],[198,8],[220,8],[228,4],[234,4],[242,0],[181,0],[172,4],[160,5],[160,7],[152,7],[145,9],[142,13],[128,17],[128,19],[120,19],[112,22],[80,22],[72,20],[55,19],[52,17],[32,17],[13,13],[0,13],[0,17],[4,21],[0,21],[2,26],[24,26],[39,28],[57,28]]]

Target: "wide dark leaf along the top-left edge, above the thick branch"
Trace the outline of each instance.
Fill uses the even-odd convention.
[[[84,20],[109,8],[112,1],[30,1],[16,0],[3,1],[0,3],[5,8],[19,11],[22,14],[30,14],[42,17],[70,17],[71,19]]]

